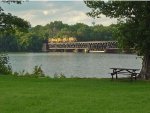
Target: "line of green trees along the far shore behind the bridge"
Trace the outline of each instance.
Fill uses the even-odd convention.
[[[48,38],[75,37],[77,41],[114,40],[113,27],[114,25],[88,26],[83,23],[68,25],[62,21],[54,21],[45,26],[29,27],[26,31],[7,30],[0,34],[0,52],[39,52]]]

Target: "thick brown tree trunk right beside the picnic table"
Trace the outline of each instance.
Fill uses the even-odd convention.
[[[150,79],[150,55],[144,55],[142,69],[139,74],[141,79]]]

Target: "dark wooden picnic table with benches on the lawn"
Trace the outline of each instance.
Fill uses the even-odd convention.
[[[118,79],[118,74],[122,74],[122,75],[130,75],[131,76],[131,80],[133,80],[133,78],[137,78],[137,75],[139,74],[137,71],[139,71],[140,69],[129,69],[129,68],[110,68],[113,70],[111,74],[112,76],[112,80],[114,79],[114,75],[116,76],[116,79]]]

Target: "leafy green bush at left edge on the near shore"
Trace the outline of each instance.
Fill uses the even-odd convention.
[[[0,74],[11,74],[12,68],[7,54],[0,54]]]

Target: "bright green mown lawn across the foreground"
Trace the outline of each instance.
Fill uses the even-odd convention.
[[[150,113],[150,81],[0,76],[0,113]]]

